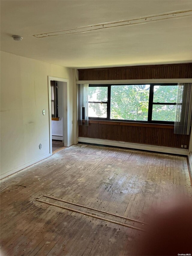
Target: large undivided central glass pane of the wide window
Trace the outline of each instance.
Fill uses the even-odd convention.
[[[111,119],[147,121],[150,85],[111,86]]]

